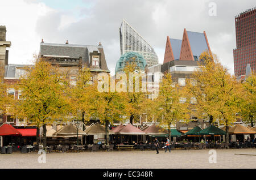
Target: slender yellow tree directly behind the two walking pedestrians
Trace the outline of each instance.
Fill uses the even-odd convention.
[[[180,120],[189,122],[189,103],[186,97],[183,89],[172,82],[171,74],[165,73],[159,84],[158,98],[153,100],[152,106],[156,110],[156,116],[161,119],[160,124],[167,126],[169,139],[172,124]]]

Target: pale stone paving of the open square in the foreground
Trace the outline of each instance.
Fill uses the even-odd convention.
[[[46,163],[37,153],[0,155],[0,168],[256,168],[256,148],[216,149],[217,163],[209,163],[209,149],[159,151],[113,151],[46,154]]]

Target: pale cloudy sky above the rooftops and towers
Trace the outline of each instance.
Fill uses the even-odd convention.
[[[31,63],[42,38],[52,43],[101,42],[112,74],[120,57],[122,19],[154,47],[159,63],[167,36],[181,39],[184,28],[205,31],[212,52],[234,74],[234,16],[252,7],[255,0],[9,0],[1,1],[0,25],[6,25],[6,40],[12,44],[9,63]]]

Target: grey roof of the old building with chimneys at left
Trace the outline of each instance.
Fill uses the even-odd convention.
[[[55,44],[55,43],[40,43],[40,55],[56,55],[64,56],[69,58],[80,58],[82,57],[82,64],[89,67],[90,65],[90,53],[94,51],[101,53],[101,69],[103,71],[109,71],[106,65],[105,54],[103,46],[94,45],[77,45],[77,44]]]

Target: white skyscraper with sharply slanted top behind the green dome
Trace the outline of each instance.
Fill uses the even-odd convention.
[[[158,56],[156,55],[155,50],[125,20],[123,20],[121,27],[119,28],[119,33],[121,55],[127,52],[135,52],[143,55],[148,67],[158,64]]]

